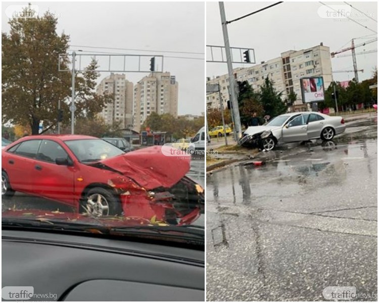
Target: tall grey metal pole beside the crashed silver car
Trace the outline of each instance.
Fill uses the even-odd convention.
[[[240,111],[238,108],[238,100],[236,98],[236,93],[235,93],[235,86],[234,86],[235,80],[234,80],[234,75],[233,75],[233,67],[231,64],[231,53],[230,53],[230,45],[229,45],[229,36],[228,36],[228,31],[227,31],[227,26],[226,26],[225,9],[224,9],[223,2],[219,2],[218,4],[220,7],[222,33],[224,35],[226,62],[228,66],[229,88],[230,88],[230,96],[231,96],[230,101],[233,108],[234,128],[235,128],[237,138],[240,139],[242,137],[241,119],[240,119]]]

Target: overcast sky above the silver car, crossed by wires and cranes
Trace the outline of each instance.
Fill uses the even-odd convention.
[[[376,2],[348,2],[353,7],[366,14],[374,14],[377,20]],[[226,20],[232,20],[249,14],[268,5],[267,2],[225,2]],[[343,2],[327,2],[327,5],[346,5]],[[351,39],[371,35],[365,39],[357,39],[355,44],[376,38],[372,31],[359,26],[353,21],[336,21],[321,18],[317,11],[322,5],[319,2],[286,2],[249,16],[228,25],[230,46],[255,49],[256,62],[267,61],[280,57],[280,53],[290,49],[300,50],[323,42],[330,47],[330,52],[336,52],[351,45]],[[356,10],[352,12],[359,13]],[[206,43],[223,45],[220,12],[217,2],[208,2]],[[377,32],[377,23],[367,17],[358,17],[359,23]],[[363,20],[362,20],[363,19]],[[346,20],[346,19],[345,19]],[[356,52],[376,49],[377,41],[356,48]],[[341,55],[351,54],[351,51]],[[357,57],[359,81],[370,78],[372,69],[377,65],[377,53]],[[352,57],[331,59],[333,70],[353,70]],[[234,64],[235,67],[251,65]],[[213,77],[227,73],[226,64],[207,63],[207,76]],[[337,81],[351,80],[354,73],[335,73]]]

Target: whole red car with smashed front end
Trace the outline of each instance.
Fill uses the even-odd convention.
[[[191,157],[161,148],[124,153],[84,135],[24,137],[2,150],[2,198],[21,191],[92,216],[191,223],[204,207],[203,188],[185,177]]]

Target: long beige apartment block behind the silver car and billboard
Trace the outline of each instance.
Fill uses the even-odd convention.
[[[291,92],[295,92],[297,100],[293,109],[304,109],[301,99],[300,78],[307,76],[322,76],[325,89],[333,81],[331,73],[330,49],[322,43],[301,51],[287,51],[280,54],[280,57],[248,68],[237,68],[233,70],[234,78],[237,81],[248,81],[255,90],[258,90],[268,77],[274,83],[278,92],[282,92],[282,99],[285,100]],[[207,84],[219,84],[221,99],[224,107],[229,100],[228,75],[218,76],[207,81]],[[207,108],[220,108],[218,93],[207,95]]]

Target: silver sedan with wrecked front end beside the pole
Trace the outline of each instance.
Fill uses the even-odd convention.
[[[317,112],[297,112],[277,116],[262,126],[250,126],[243,134],[243,146],[271,150],[276,145],[312,139],[331,140],[345,131],[342,117]]]

